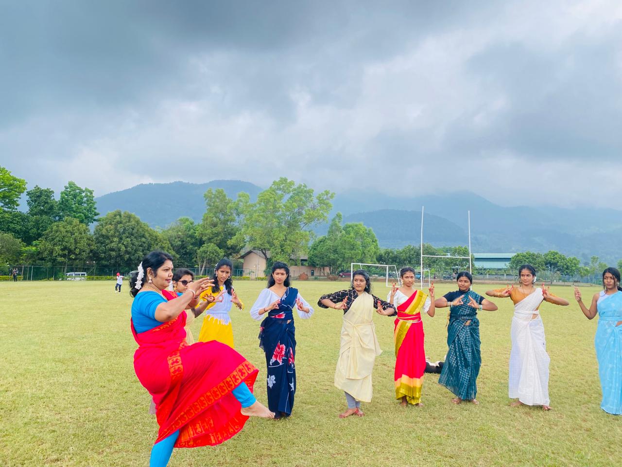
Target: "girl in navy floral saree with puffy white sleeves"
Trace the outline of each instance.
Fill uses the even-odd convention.
[[[296,392],[296,338],[294,309],[302,319],[310,318],[313,308],[297,289],[290,287],[285,263],[272,265],[268,286],[251,308],[251,317],[260,321],[259,347],[266,353],[268,407],[274,418],[289,417]],[[266,316],[264,316],[266,315]]]

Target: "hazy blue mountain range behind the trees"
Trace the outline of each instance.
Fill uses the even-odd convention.
[[[100,196],[96,202],[101,215],[128,210],[152,227],[164,228],[183,216],[200,222],[205,211],[203,194],[209,188],[222,188],[232,199],[238,192],[247,192],[251,201],[262,191],[250,182],[234,180],[140,184]],[[386,196],[361,189],[337,194],[331,215],[341,212],[344,222],[371,227],[381,247],[401,248],[420,242],[422,207],[424,242],[435,247],[468,244],[470,211],[473,252],[557,250],[583,262],[596,255],[613,265],[622,258],[622,210],[617,209],[565,209],[545,204],[505,207],[469,191]],[[323,235],[326,230],[327,224],[315,232]]]

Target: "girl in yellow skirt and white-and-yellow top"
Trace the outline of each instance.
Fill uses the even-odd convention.
[[[233,270],[231,260],[221,259],[214,271],[214,286],[200,295],[200,300],[208,301],[210,304],[205,310],[198,341],[218,341],[233,349],[233,326],[229,310],[231,304],[235,304],[238,309],[244,309],[244,304],[233,290],[231,270]]]

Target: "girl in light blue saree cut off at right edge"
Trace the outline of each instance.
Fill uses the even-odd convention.
[[[581,300],[575,287],[575,298],[583,314],[593,319],[598,313],[598,328],[594,345],[598,359],[598,375],[603,391],[600,408],[614,415],[622,414],[622,287],[620,271],[603,271],[603,291],[594,294],[590,308]]]

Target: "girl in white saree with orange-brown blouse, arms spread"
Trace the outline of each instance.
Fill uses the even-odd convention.
[[[550,409],[549,400],[549,354],[546,351],[544,324],[540,317],[543,301],[557,305],[568,305],[568,301],[557,297],[542,285],[535,287],[536,270],[532,265],[519,268],[520,285],[489,290],[486,295],[504,298],[514,302],[511,337],[512,350],[509,356],[509,397],[518,399],[511,405],[541,405]]]

